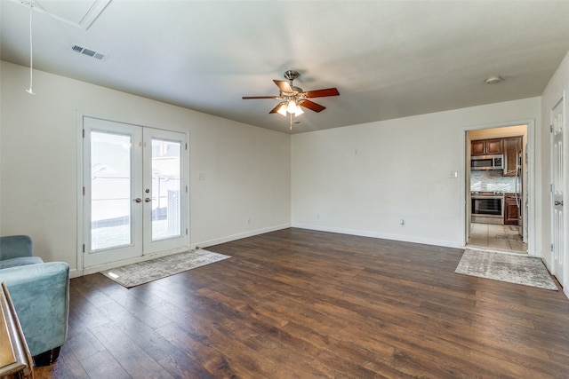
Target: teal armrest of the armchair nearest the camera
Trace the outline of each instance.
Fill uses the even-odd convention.
[[[69,265],[49,262],[0,270],[29,352],[36,356],[60,347],[68,334]]]

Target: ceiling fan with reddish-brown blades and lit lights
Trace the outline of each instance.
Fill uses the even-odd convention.
[[[284,80],[273,80],[276,86],[280,90],[278,96],[244,96],[243,99],[277,99],[282,100],[276,107],[271,109],[269,114],[294,114],[295,116],[303,114],[304,111],[302,107],[308,108],[314,112],[322,112],[326,107],[323,107],[314,101],[310,101],[311,98],[325,98],[328,96],[338,96],[340,92],[336,88],[326,88],[324,90],[316,91],[302,91],[301,88],[293,86],[293,80],[299,77],[296,71],[288,70],[284,73]]]

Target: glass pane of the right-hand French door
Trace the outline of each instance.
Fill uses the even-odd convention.
[[[181,235],[181,143],[152,138],[152,241]]]

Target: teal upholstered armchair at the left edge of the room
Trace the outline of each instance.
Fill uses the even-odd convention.
[[[28,236],[0,237],[0,282],[4,282],[36,366],[58,358],[68,334],[69,265],[34,256]]]

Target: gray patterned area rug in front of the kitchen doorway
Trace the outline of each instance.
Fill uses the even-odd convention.
[[[464,250],[461,262],[454,272],[524,286],[558,290],[541,259],[535,257],[467,249]]]

